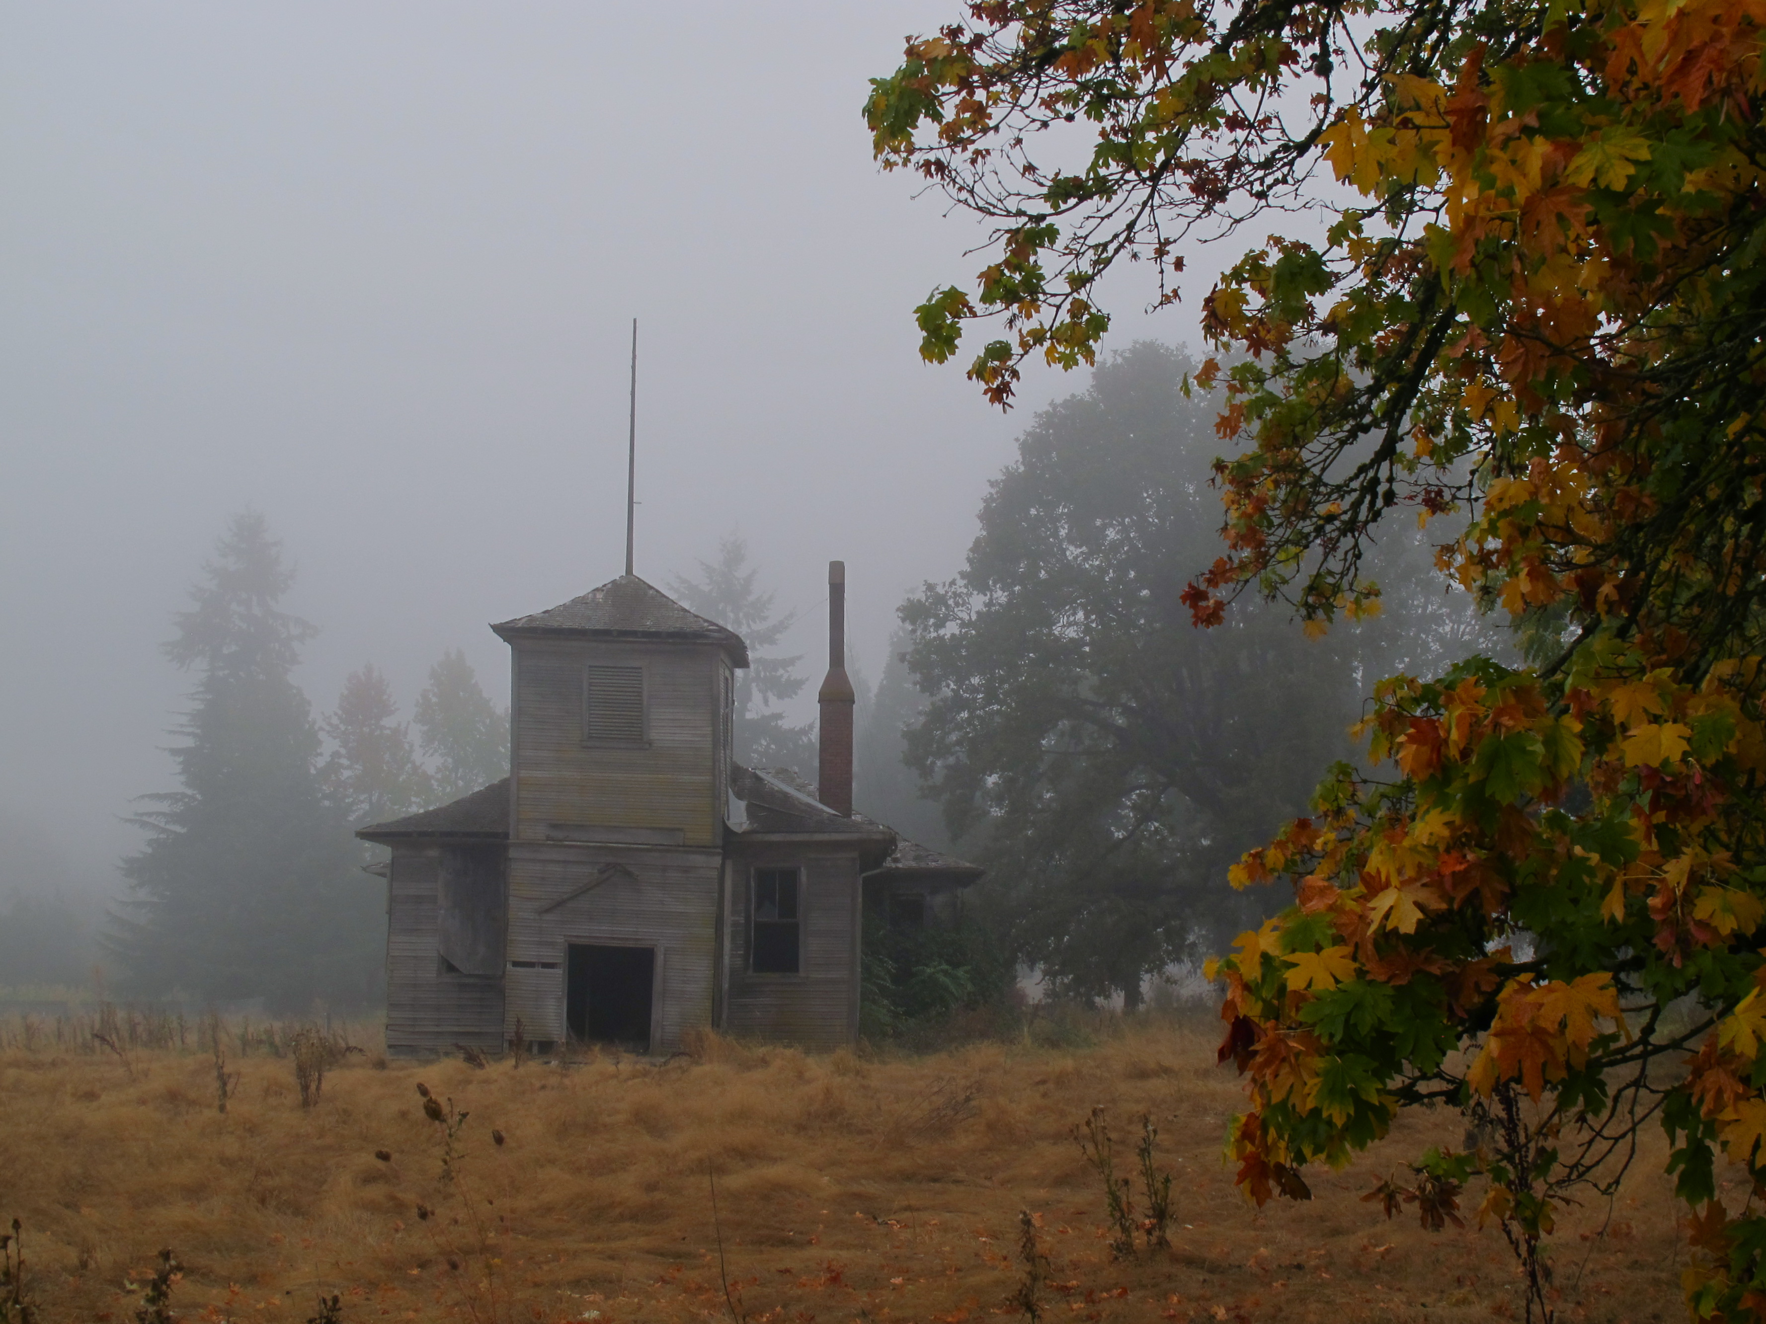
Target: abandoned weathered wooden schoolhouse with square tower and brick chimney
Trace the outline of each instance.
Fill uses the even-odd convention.
[[[834,561],[814,789],[731,761],[747,646],[638,575],[493,625],[509,777],[357,831],[392,849],[389,1050],[851,1043],[864,925],[936,922],[982,870],[853,812],[844,614]]]

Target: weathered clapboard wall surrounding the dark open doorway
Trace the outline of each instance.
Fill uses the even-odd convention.
[[[503,1033],[565,1034],[565,952],[572,943],[657,950],[659,997],[650,1052],[675,1052],[682,1033],[712,1024],[717,955],[713,851],[645,846],[516,844],[509,847],[509,962]],[[593,884],[593,886],[590,886]]]

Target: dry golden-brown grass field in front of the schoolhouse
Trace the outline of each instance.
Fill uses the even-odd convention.
[[[1430,1234],[1360,1199],[1402,1158],[1455,1142],[1457,1114],[1406,1121],[1353,1169],[1317,1172],[1310,1204],[1257,1211],[1222,1165],[1240,1096],[1213,1038],[1208,1022],[1141,1017],[1091,1047],[901,1059],[721,1040],[666,1064],[477,1070],[367,1052],[330,1070],[311,1110],[288,1057],[253,1054],[230,1064],[221,1116],[207,1052],[25,1050],[14,1036],[0,1049],[0,1218],[23,1220],[44,1324],[136,1319],[125,1283],[161,1248],[184,1266],[185,1320],[302,1324],[337,1292],[351,1322],[961,1324],[1019,1315],[1021,1209],[1051,1259],[1044,1320],[1519,1317],[1496,1229]],[[419,1082],[470,1114],[452,1179]],[[1114,1125],[1118,1170],[1141,1114],[1158,1125],[1176,1176],[1169,1252],[1113,1259],[1102,1186],[1072,1139],[1093,1105]],[[1683,1317],[1660,1158],[1642,1156],[1611,1209],[1559,1223],[1561,1319]]]

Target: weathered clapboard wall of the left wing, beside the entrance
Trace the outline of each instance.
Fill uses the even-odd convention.
[[[494,936],[468,937],[464,913],[502,909],[502,849],[396,846],[387,914],[387,1050],[394,1056],[445,1052],[456,1043],[500,1049],[503,1042],[502,971],[482,955]],[[449,904],[443,906],[443,900]],[[477,973],[445,973],[442,916],[454,913],[456,952]],[[479,952],[475,959],[472,953]],[[500,964],[500,962],[498,962]]]

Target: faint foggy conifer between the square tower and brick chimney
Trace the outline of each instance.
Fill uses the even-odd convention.
[[[675,575],[669,591],[682,606],[742,636],[749,646],[749,669],[736,673],[736,763],[751,768],[789,768],[812,775],[816,768],[814,724],[791,726],[777,706],[804,688],[796,657],[765,650],[796,625],[796,613],[774,616],[775,593],[756,588],[759,570],[749,565],[749,544],[740,533],[717,540],[717,561],[699,561],[699,579]]]

